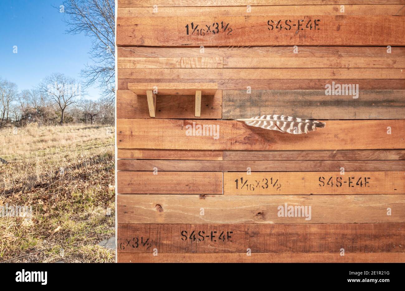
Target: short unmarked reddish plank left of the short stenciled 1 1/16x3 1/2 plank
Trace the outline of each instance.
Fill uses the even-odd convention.
[[[119,171],[117,185],[120,194],[222,194],[222,173]]]

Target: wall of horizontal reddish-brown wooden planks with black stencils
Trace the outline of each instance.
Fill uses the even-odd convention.
[[[405,1],[324,2],[118,0],[118,262],[405,261]],[[151,118],[136,83],[218,91]],[[234,120],[264,114],[326,126]]]

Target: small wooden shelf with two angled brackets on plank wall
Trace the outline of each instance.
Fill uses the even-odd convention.
[[[156,95],[194,95],[196,96],[195,116],[201,116],[201,96],[215,95],[217,83],[128,83],[128,89],[136,95],[146,95],[149,115],[155,117]]]

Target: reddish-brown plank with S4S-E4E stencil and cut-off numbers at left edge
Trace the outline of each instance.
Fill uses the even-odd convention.
[[[117,246],[118,252],[163,253],[405,252],[405,224],[118,224]]]

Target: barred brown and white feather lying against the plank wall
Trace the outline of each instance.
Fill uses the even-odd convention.
[[[245,124],[249,126],[256,126],[264,129],[281,131],[283,133],[292,133],[296,135],[315,131],[317,127],[325,127],[324,122],[284,115],[263,115],[235,120],[244,121]]]

